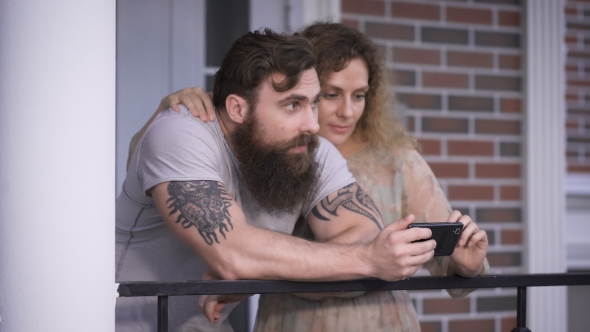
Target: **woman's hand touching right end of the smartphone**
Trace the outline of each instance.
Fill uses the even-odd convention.
[[[449,216],[448,222],[462,222],[463,233],[457,242],[455,251],[451,255],[449,274],[463,277],[475,277],[482,271],[482,263],[488,248],[488,235],[479,229],[477,224],[467,215],[455,210]]]

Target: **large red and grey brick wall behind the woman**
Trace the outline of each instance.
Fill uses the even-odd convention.
[[[521,15],[518,0],[342,0],[342,22],[386,49],[406,125],[451,205],[488,232],[492,273],[524,272]],[[411,296],[424,332],[499,332],[516,326],[515,294]]]

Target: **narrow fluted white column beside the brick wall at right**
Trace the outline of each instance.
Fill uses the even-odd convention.
[[[564,18],[560,0],[526,2],[526,265],[565,272]],[[528,290],[528,327],[566,331],[565,287]]]

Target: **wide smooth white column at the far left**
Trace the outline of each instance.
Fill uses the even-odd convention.
[[[0,2],[0,330],[114,330],[115,1]]]

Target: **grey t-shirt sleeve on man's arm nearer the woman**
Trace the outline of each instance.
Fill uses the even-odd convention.
[[[348,171],[346,159],[336,150],[336,147],[322,137],[319,139],[320,145],[316,153],[316,161],[320,167],[319,186],[309,205],[304,206],[304,217],[326,196],[356,182],[352,173]]]

